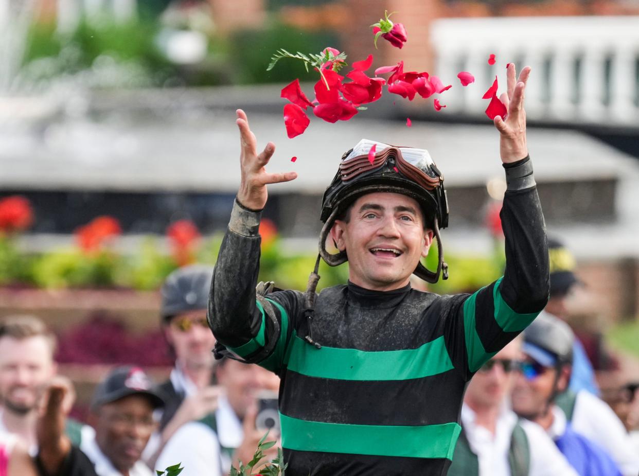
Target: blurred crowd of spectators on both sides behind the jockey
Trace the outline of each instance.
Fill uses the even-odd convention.
[[[549,249],[550,302],[470,381],[451,476],[639,474],[639,382],[599,390],[565,321],[581,286],[573,260],[559,242]],[[150,476],[178,463],[183,476],[220,476],[250,461],[266,431],[278,440],[279,378],[215,360],[206,320],[212,272],[186,266],[162,286],[169,378],[153,383],[140,367],[112,369],[86,424],[68,416],[75,394],[57,374],[54,334],[36,316],[2,319],[0,476]],[[277,445],[265,461],[276,455]]]

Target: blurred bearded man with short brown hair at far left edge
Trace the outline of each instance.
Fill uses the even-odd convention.
[[[56,374],[56,337],[33,316],[0,322],[0,433],[13,434],[31,454],[42,390]]]

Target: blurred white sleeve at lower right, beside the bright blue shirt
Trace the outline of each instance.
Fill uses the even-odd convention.
[[[585,390],[578,392],[571,424],[574,431],[606,450],[624,476],[639,475],[639,452],[624,424],[603,400]]]

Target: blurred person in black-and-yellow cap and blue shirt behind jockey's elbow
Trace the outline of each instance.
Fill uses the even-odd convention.
[[[569,315],[569,298],[574,287],[580,284],[573,272],[574,257],[562,243],[553,238],[548,238],[548,255],[550,256],[550,300],[544,311],[566,321]],[[573,372],[569,388],[573,392],[587,390],[591,394],[599,395],[592,363],[579,339],[574,339]]]

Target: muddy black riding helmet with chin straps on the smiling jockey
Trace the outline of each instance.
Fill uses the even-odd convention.
[[[373,144],[372,141],[362,139],[362,141],[355,146],[355,149],[367,151],[366,148],[362,149],[364,142]],[[380,162],[379,165],[376,164],[376,167],[366,165],[365,168],[371,169],[363,173],[353,173],[351,174],[353,178],[346,176],[343,173],[343,169],[340,169],[324,192],[320,217],[324,226],[319,236],[319,254],[330,266],[337,266],[346,262],[348,260],[346,252],[328,254],[326,250],[326,239],[335,219],[339,218],[348,206],[362,195],[373,192],[398,193],[411,197],[420,204],[426,224],[433,230],[437,240],[439,253],[437,270],[435,272],[427,270],[419,263],[417,268],[415,268],[415,275],[427,282],[437,282],[440,272],[443,270],[443,279],[447,279],[447,265],[443,261],[443,246],[439,233],[441,228],[448,226],[448,202],[446,192],[443,188],[442,173],[440,173],[427,151],[420,151],[424,153],[424,157],[420,160],[419,164],[412,165],[412,167],[424,173],[433,184],[431,187],[426,188],[401,173],[401,170],[398,169],[397,161],[399,158],[397,157],[397,153],[400,148],[388,146],[387,144],[377,144],[379,149],[376,150],[377,153],[375,157],[383,157],[383,161],[376,160],[376,162]],[[350,157],[352,153],[353,149],[344,153],[342,156],[342,164],[344,164],[345,160],[349,162],[354,158]]]

